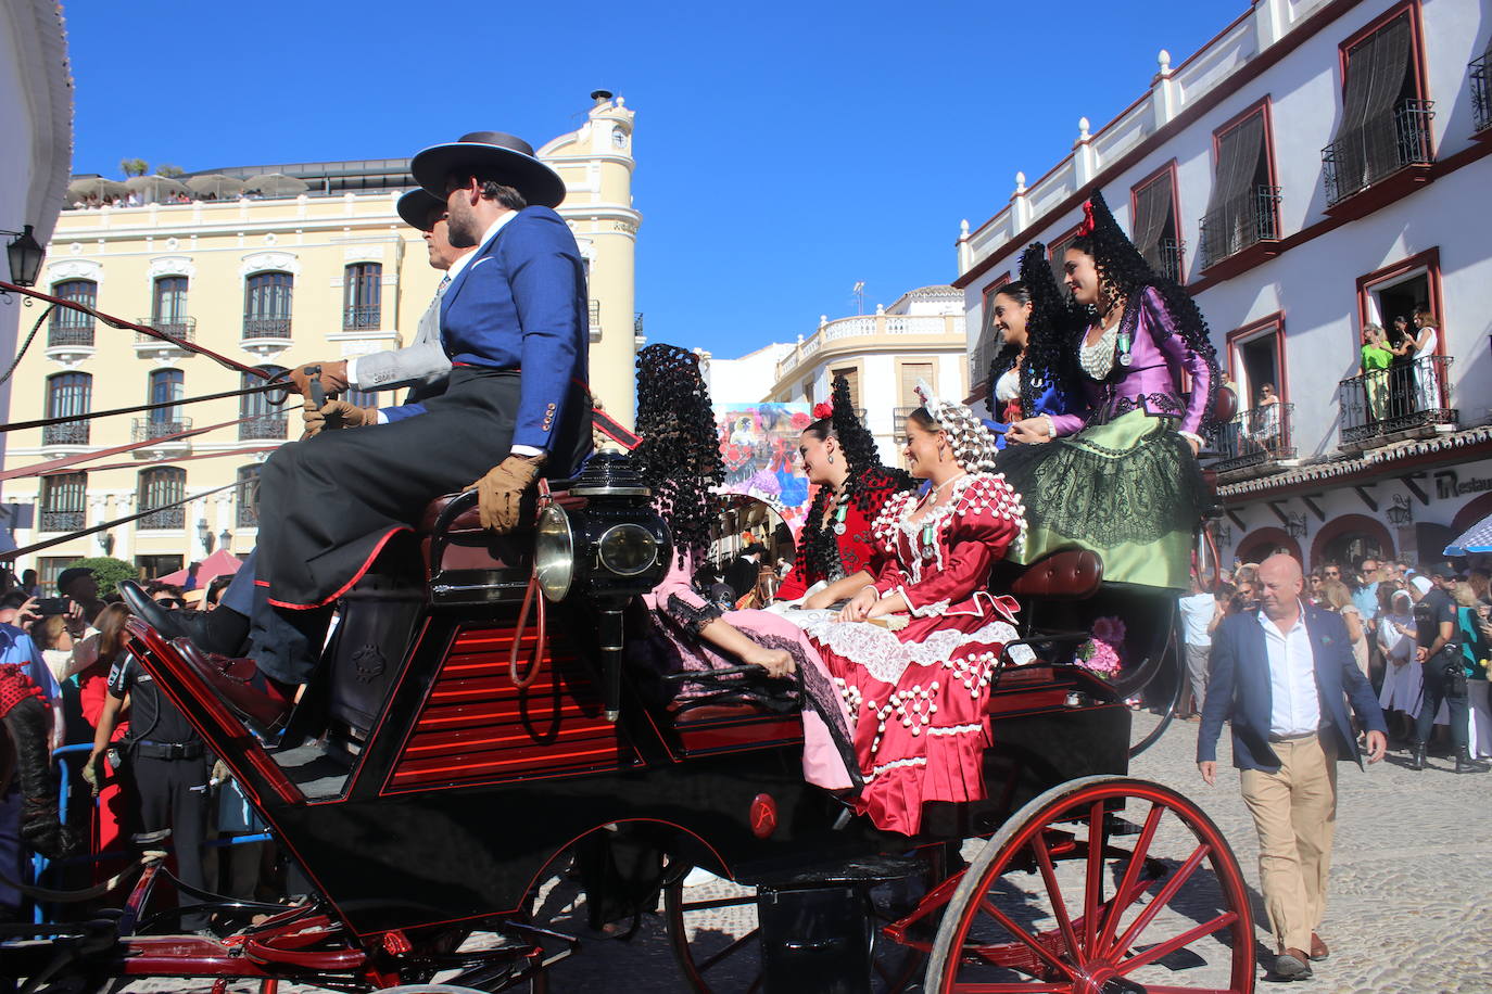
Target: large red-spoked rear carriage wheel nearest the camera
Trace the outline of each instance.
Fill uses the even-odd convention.
[[[1253,976],[1249,893],[1217,826],[1161,784],[1086,776],[1028,803],[979,852],[927,990],[1247,994]]]

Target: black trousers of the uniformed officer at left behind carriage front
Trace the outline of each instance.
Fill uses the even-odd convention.
[[[166,760],[130,756],[134,790],[140,800],[140,832],[170,829],[170,845],[176,849],[176,875],[188,887],[210,890],[204,866],[207,842],[207,760]],[[201,903],[186,894],[182,908]],[[184,928],[201,928],[201,915],[182,915]]]

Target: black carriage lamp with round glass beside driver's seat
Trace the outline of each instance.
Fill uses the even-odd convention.
[[[570,496],[585,505],[551,504],[539,516],[534,575],[551,602],[583,596],[595,605],[601,700],[607,720],[615,721],[622,696],[622,608],[668,572],[673,536],[625,455],[594,456],[571,481]]]

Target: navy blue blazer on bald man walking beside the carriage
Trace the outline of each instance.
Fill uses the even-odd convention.
[[[1341,615],[1306,607],[1306,630],[1316,662],[1322,735],[1335,736],[1337,757],[1352,757],[1362,766],[1358,739],[1352,735],[1346,700],[1370,732],[1388,733],[1383,709],[1368,678],[1358,669]],[[1207,700],[1197,732],[1197,762],[1217,759],[1217,735],[1223,718],[1232,718],[1232,765],[1238,769],[1276,772],[1280,759],[1270,748],[1270,656],[1258,614],[1234,614],[1217,626],[1212,642],[1212,672]]]

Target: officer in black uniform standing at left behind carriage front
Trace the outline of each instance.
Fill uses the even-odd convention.
[[[130,735],[119,744],[139,802],[142,833],[170,829],[176,849],[176,876],[186,887],[207,890],[203,866],[207,839],[207,750],[186,717],[161,693],[151,674],[128,651],[121,651],[109,668],[109,694],[90,765],[97,763],[119,720],[130,712]],[[186,911],[200,900],[185,891],[179,896],[182,928],[207,927],[206,915]]]

